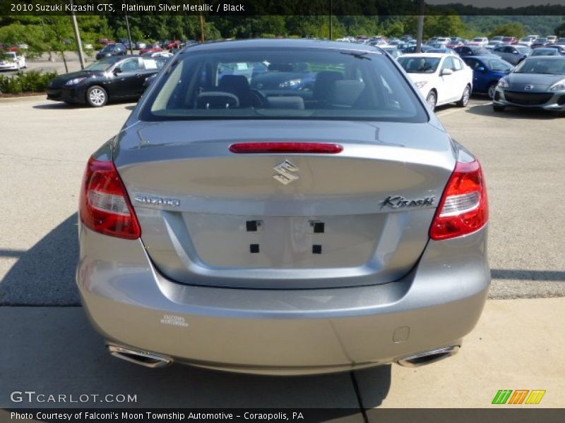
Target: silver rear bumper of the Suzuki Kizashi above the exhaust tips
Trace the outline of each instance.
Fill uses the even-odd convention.
[[[233,372],[338,372],[460,345],[490,282],[487,228],[430,241],[415,269],[393,283],[253,290],[169,281],[140,240],[80,225],[78,288],[109,342]]]

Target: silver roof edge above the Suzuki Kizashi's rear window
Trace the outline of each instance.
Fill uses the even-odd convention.
[[[252,49],[257,47],[273,48],[273,47],[294,47],[294,48],[323,48],[338,49],[349,51],[369,51],[372,53],[381,53],[381,49],[369,44],[347,43],[340,41],[330,41],[326,39],[231,39],[227,41],[203,42],[191,44],[184,47],[183,51],[210,51],[210,50],[230,50],[230,49]]]

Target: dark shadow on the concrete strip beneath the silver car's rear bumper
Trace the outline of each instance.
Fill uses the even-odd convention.
[[[253,376],[182,364],[148,369],[118,360],[107,353],[81,307],[0,307],[0,333],[10,345],[0,349],[0,407],[327,407],[345,409],[336,410],[340,417],[359,414],[356,387],[347,372]],[[390,366],[362,372],[372,381],[364,395],[371,400],[364,407],[379,405],[390,388]],[[74,398],[129,394],[136,402],[12,403],[12,391]]]

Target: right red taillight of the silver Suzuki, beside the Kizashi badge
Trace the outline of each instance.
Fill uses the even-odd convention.
[[[430,238],[446,240],[466,235],[488,220],[487,188],[479,161],[458,161],[434,216]]]

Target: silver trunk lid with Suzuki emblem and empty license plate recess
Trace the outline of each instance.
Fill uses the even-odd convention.
[[[343,151],[230,151],[246,142]],[[117,147],[157,269],[183,283],[244,288],[401,278],[427,244],[455,165],[448,136],[429,124],[141,123],[124,130]]]

